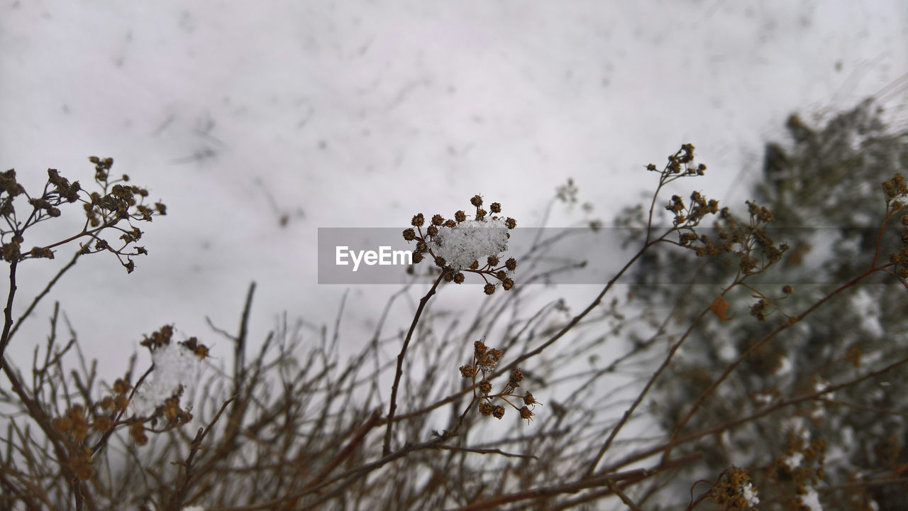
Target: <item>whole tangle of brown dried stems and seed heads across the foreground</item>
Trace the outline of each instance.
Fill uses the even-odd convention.
[[[15,172],[2,175],[3,255],[12,284],[4,348],[59,277],[14,321],[16,266],[25,259],[53,256],[76,240],[77,254],[61,274],[86,253],[112,252],[128,271],[132,258],[145,254],[134,246],[142,233],[133,223],[163,214],[164,206],[143,205],[147,192],[121,185],[126,176],[114,184],[111,160],[92,161],[101,188],[94,195],[49,171],[44,192],[32,198]],[[868,264],[804,300],[800,286],[780,290],[767,283],[798,251],[776,240],[770,208],[748,202],[739,216],[700,192],[660,199],[679,180],[705,173],[693,145],[669,155],[662,168],[646,168],[656,176],[648,211],[639,207],[622,220],[641,227],[629,242],[637,249],[576,311],[563,299],[540,303],[543,295],[531,286],[579,266],[543,271],[533,265],[547,243],[563,238],[505,258],[509,236],[519,233],[512,231],[516,221],[499,216],[498,203],[484,209],[480,195],[470,200],[472,218],[463,211],[451,219],[412,218],[403,237],[416,244],[414,263],[434,263],[431,280],[412,272],[356,353],[341,340],[341,313],[333,328],[283,317],[253,342],[253,284],[238,331],[212,325],[232,344],[231,368],[213,366],[200,339],[177,340],[173,326],[163,326],[141,343],[153,365],[138,371],[133,358],[124,376],[107,385],[94,363],[85,363],[72,330],[67,342],[58,341],[55,306],[31,378],[3,356],[10,386],[0,386],[6,412],[0,509],[795,509],[819,505],[821,493],[834,491],[821,484],[831,472],[850,476],[835,484],[855,491],[903,486],[904,429],[866,446],[888,460],[876,472],[836,465],[824,439],[804,433],[806,420],[790,429],[785,446],[758,433],[776,414],[819,420],[811,416],[816,410],[864,413],[866,406],[833,396],[891,375],[908,357],[869,360],[851,351],[854,371],[828,381],[775,390],[751,385],[759,367],[778,361],[775,346],[813,325],[829,304],[878,276],[905,282],[903,177],[883,184],[878,235],[863,252]],[[569,181],[551,205],[573,204],[577,193]],[[17,215],[19,195],[28,208]],[[22,248],[31,225],[64,214],[60,206],[74,202],[83,203],[86,215],[80,233]],[[891,221],[902,222],[894,245]],[[119,248],[109,239],[114,233]],[[646,284],[634,274],[636,265],[674,268],[689,280],[701,275],[686,266],[690,261],[710,262],[714,279],[681,282],[686,286],[674,286],[666,298],[639,288],[637,302],[616,296],[619,280]],[[429,303],[443,286],[469,284],[468,277],[483,286],[475,314],[446,308],[441,299]],[[508,293],[495,293],[498,286]],[[425,287],[418,303],[406,302]],[[750,315],[740,314],[742,296]],[[637,306],[641,300],[645,306]],[[412,314],[409,329],[387,333],[396,307]],[[744,328],[747,336],[737,342]],[[739,349],[709,366],[692,364],[690,354],[700,347],[714,350],[706,333],[734,340]],[[488,339],[494,341],[487,345]],[[204,376],[185,376],[203,363]],[[749,400],[736,397],[742,395]],[[513,420],[489,420],[508,408]],[[903,425],[903,411],[885,413]],[[765,448],[723,440],[742,431],[768,438]],[[755,453],[772,456],[774,465]],[[858,509],[870,501],[849,502]]]

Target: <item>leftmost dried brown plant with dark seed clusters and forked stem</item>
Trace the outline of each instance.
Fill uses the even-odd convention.
[[[33,368],[32,385],[29,388],[23,375],[13,366],[5,356],[6,347],[9,346],[13,336],[26,317],[34,310],[38,302],[47,294],[56,281],[74,266],[81,255],[98,252],[109,252],[117,257],[120,264],[128,273],[134,270],[133,257],[147,255],[148,251],[143,246],[135,245],[142,238],[143,232],[136,226],[139,222],[151,222],[153,215],[164,215],[166,206],[161,202],[152,206],[145,205],[148,190],[137,185],[125,185],[130,181],[128,175],[114,177],[111,167],[114,165],[112,158],[99,158],[92,156],[89,160],[94,164],[94,182],[98,191],[88,192],[82,188],[78,181],[70,181],[61,176],[55,169],[47,169],[47,182],[41,194],[29,194],[23,185],[16,180],[15,170],[8,170],[0,174],[0,215],[3,225],[0,225],[0,253],[9,265],[10,287],[4,309],[4,328],[0,336],[0,366],[6,379],[12,387],[13,395],[18,400],[17,405],[22,406],[27,415],[40,427],[41,435],[35,436],[28,427],[24,431],[17,430],[18,444],[16,455],[13,456],[15,438],[10,435],[6,438],[8,447],[4,466],[0,466],[0,480],[11,498],[16,498],[25,503],[29,508],[36,502],[44,500],[49,503],[51,497],[49,488],[29,484],[30,479],[41,480],[60,471],[63,479],[71,488],[74,505],[81,509],[83,506],[97,508],[94,497],[83,482],[91,481],[96,475],[93,463],[100,451],[103,451],[108,440],[120,428],[128,428],[130,436],[137,445],[148,442],[146,432],[163,433],[171,431],[178,426],[189,422],[192,416],[180,406],[183,388],[169,389],[168,396],[155,396],[153,407],[143,413],[127,415],[130,403],[136,395],[139,386],[149,374],[150,367],[141,376],[135,386],[130,384],[130,373],[117,379],[108,392],[94,399],[92,388],[94,386],[94,366],[87,376],[87,381],[78,377],[75,384],[79,389],[78,397],[64,392],[57,395],[57,386],[64,384],[65,376],[62,371],[62,358],[74,346],[74,341],[63,347],[55,348],[56,324],[58,308],[54,308],[52,318],[52,334],[49,337],[45,350],[44,364],[37,361],[37,348],[35,348],[35,365]],[[20,199],[25,199],[24,204]],[[36,245],[30,250],[23,248],[26,243],[27,233],[35,225],[48,219],[62,215],[62,209],[67,204],[82,203],[85,216],[82,230],[64,237],[50,244]],[[114,240],[113,236],[116,236]],[[71,242],[78,242],[79,249],[68,265],[64,266],[44,292],[36,296],[25,310],[25,314],[18,320],[13,319],[13,305],[15,303],[16,274],[20,264],[27,259],[54,258],[55,249]],[[165,326],[160,332],[147,338],[143,345],[153,351],[165,349],[170,345],[173,328]],[[200,358],[207,354],[207,348],[197,339],[181,343],[180,349],[192,350],[193,356]],[[63,378],[63,379],[61,379]],[[48,394],[48,388],[50,393]],[[65,387],[64,387],[65,390]],[[171,390],[173,393],[171,393]],[[10,396],[6,396],[7,399]],[[64,408],[60,408],[58,397],[64,401]],[[75,399],[81,398],[78,402]],[[163,424],[160,424],[163,423]],[[9,424],[13,431],[15,423]],[[47,456],[54,456],[55,463],[47,465],[48,459],[35,458],[30,445],[44,446]],[[51,455],[50,453],[54,454]],[[19,462],[25,462],[30,468],[23,472],[16,468]],[[55,466],[55,468],[54,468]],[[50,473],[44,473],[50,470]],[[38,491],[40,490],[40,491]],[[59,489],[58,489],[59,491]],[[59,494],[58,494],[59,495]],[[64,494],[65,495],[65,494]],[[68,498],[65,500],[69,500]]]

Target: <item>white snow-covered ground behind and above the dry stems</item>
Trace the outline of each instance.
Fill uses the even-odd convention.
[[[116,375],[165,323],[226,359],[204,318],[235,331],[252,280],[253,339],[282,311],[333,322],[349,290],[356,343],[397,288],[319,286],[318,227],[403,229],[478,193],[538,225],[568,177],[609,222],[685,142],[709,165],[686,186],[740,204],[787,115],[903,107],[906,73],[904,0],[3,0],[0,165],[87,187],[86,157],[112,156],[168,205],[132,275],[93,255],[52,297]],[[16,316],[53,267],[21,267]],[[15,339],[20,366],[52,306]]]

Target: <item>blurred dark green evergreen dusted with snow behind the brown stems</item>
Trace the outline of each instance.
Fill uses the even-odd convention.
[[[755,187],[755,202],[768,207],[775,218],[770,235],[790,249],[779,264],[747,284],[771,297],[780,310],[766,309],[772,312],[760,321],[755,317],[758,311],[748,314],[757,302],[755,291],[738,286],[725,296],[727,315],[735,315],[732,320],[720,322],[709,315],[694,328],[669,371],[656,382],[651,399],[651,411],[666,430],[675,428],[729,362],[784,323],[785,315],[800,314],[871,267],[885,210],[880,184],[895,173],[904,175],[908,168],[908,131],[893,133],[881,113],[873,100],[867,100],[820,126],[792,115],[786,123],[790,141],[765,146],[764,175]],[[727,206],[734,211],[734,205]],[[899,216],[883,231],[877,265],[887,262],[901,245]],[[646,310],[663,311],[663,318],[671,311],[669,323],[662,326],[654,314],[651,326],[674,341],[690,318],[735,279],[736,270],[735,264],[698,258],[690,250],[650,251],[637,267],[634,296]],[[793,289],[783,291],[784,286]],[[706,399],[684,432],[730,422],[906,356],[908,295],[894,276],[879,272],[745,360]],[[685,448],[706,452],[705,476],[711,473],[715,478],[728,466],[750,467],[763,481],[764,502],[772,496],[794,495],[797,486],[898,478],[908,467],[903,465],[908,463],[908,450],[901,448],[908,442],[906,384],[908,368],[899,366],[827,396],[832,402],[789,406]],[[679,447],[676,453],[683,451]],[[880,509],[908,509],[906,488],[904,482],[849,486],[823,499],[842,499],[840,509],[869,509],[870,499]]]

